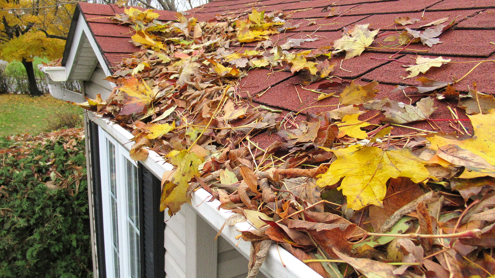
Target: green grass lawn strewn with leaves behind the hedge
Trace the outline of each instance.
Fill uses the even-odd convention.
[[[60,114],[82,112],[82,108],[51,95],[0,94],[0,137],[38,134],[49,130]]]

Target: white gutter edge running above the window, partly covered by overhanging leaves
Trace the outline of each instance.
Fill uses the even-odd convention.
[[[130,139],[134,137],[131,133],[116,123],[110,122],[107,119],[95,117],[95,114],[92,112],[88,112],[88,114],[90,120],[93,120],[127,150],[131,149],[132,143]],[[161,177],[165,171],[173,169],[171,164],[165,162],[161,156],[152,150],[149,150],[148,158],[142,160],[141,163],[143,163],[156,177]],[[218,231],[225,223],[225,220],[227,220],[227,218],[229,218],[229,216],[231,216],[234,212],[225,209],[218,209],[220,206],[219,200],[213,200],[212,202],[204,201],[210,196],[211,194],[209,194],[206,190],[199,188],[192,194],[191,207],[211,227]],[[254,228],[250,223],[244,222],[238,223],[234,226],[225,226],[222,230],[222,235],[224,238],[229,241],[230,244],[235,246],[241,254],[243,254],[246,258],[249,258],[251,243],[236,239],[236,236],[240,234],[237,230],[247,231],[254,230]],[[213,240],[213,238],[211,240]],[[322,278],[318,273],[306,266],[291,253],[282,247],[277,248],[275,244],[272,244],[270,247],[265,262],[261,266],[261,272],[269,278]]]

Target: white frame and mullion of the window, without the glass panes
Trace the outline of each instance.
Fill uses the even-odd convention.
[[[129,156],[129,151],[125,149],[117,140],[113,139],[108,133],[104,132],[101,127],[99,132],[99,159],[101,173],[101,198],[103,209],[103,237],[105,246],[105,265],[106,277],[116,278],[114,271],[114,253],[113,253],[113,234],[112,234],[112,215],[111,215],[111,195],[110,195],[110,163],[109,149],[107,142],[115,147],[115,178],[116,178],[116,197],[117,197],[117,222],[119,237],[119,278],[130,278],[130,242],[129,242],[129,225],[127,217],[129,215],[128,187],[127,187],[127,165],[129,161],[135,167],[137,163]],[[136,204],[139,207],[139,203]],[[139,223],[138,223],[139,226]],[[140,231],[140,236],[143,236]],[[141,246],[140,246],[141,247]],[[141,250],[140,250],[141,251]],[[141,270],[143,271],[143,270]]]

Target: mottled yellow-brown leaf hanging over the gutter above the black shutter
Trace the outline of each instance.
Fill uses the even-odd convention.
[[[168,181],[162,181],[163,189],[160,202],[160,211],[168,208],[168,215],[176,214],[185,203],[191,203],[187,196],[189,182],[194,176],[199,176],[198,166],[202,160],[198,155],[189,150],[171,151],[170,163],[177,166],[173,176]]]

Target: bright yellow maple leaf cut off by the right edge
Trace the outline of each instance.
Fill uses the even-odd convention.
[[[471,119],[471,124],[474,129],[474,136],[472,138],[456,140],[433,136],[428,138],[431,142],[430,148],[433,150],[439,150],[439,148],[441,148],[440,152],[437,151],[439,156],[452,164],[465,166],[466,170],[459,176],[461,179],[486,176],[495,177],[495,171],[493,169],[493,166],[495,165],[495,139],[493,137],[495,134],[495,126],[493,125],[495,121],[495,109],[490,110],[488,114],[468,115],[468,117]],[[460,149],[455,153],[449,153],[446,148],[444,148],[449,144],[457,145]],[[474,155],[468,155],[466,151],[471,152]],[[473,167],[473,165],[469,163],[473,160],[480,160],[479,157],[490,165],[487,165],[486,167]],[[460,161],[459,158],[462,158],[465,161]]]

